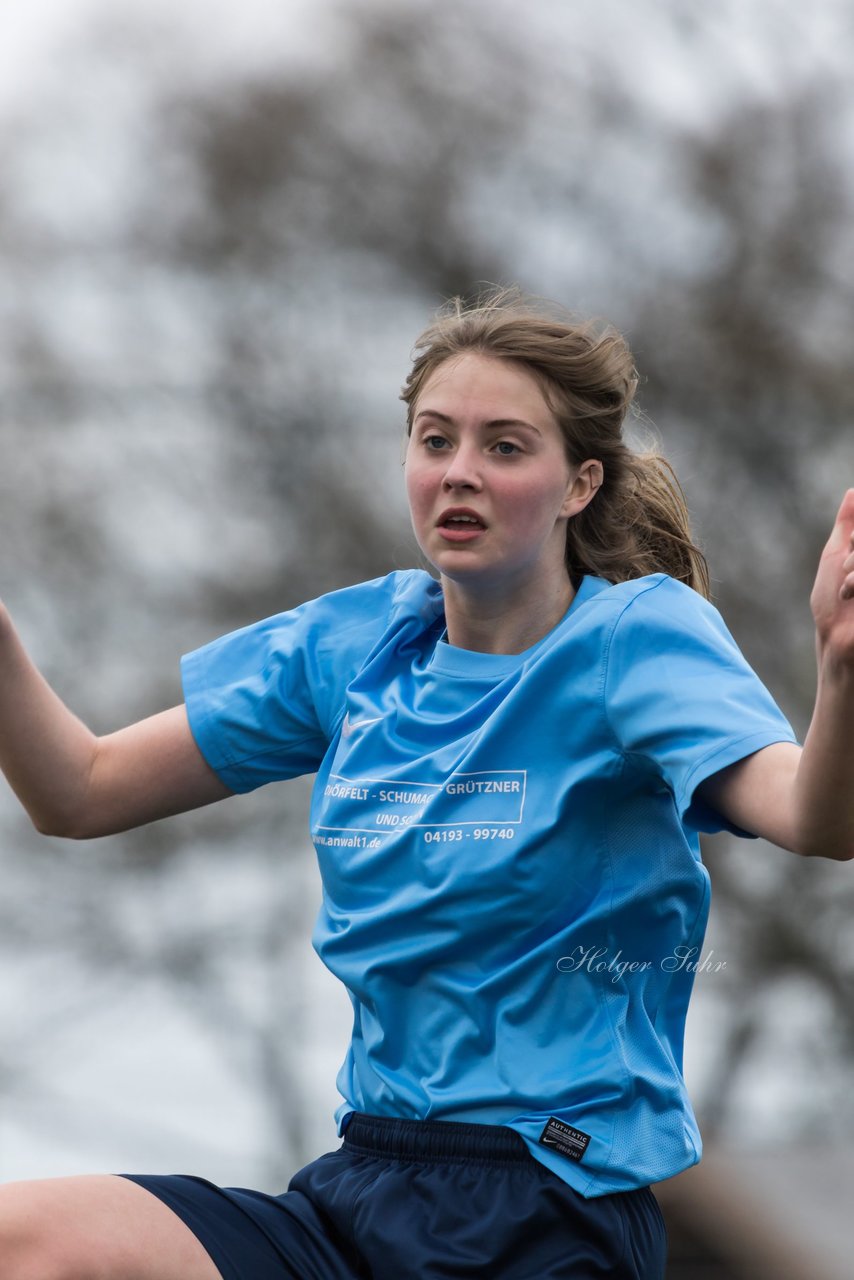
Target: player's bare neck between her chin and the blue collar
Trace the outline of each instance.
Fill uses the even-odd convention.
[[[512,596],[472,591],[444,577],[442,586],[448,643],[478,653],[524,653],[557,626],[575,598],[566,576]]]

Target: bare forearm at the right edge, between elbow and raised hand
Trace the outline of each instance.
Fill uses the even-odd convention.
[[[816,709],[793,792],[800,852],[854,858],[854,668],[830,653],[818,657]]]

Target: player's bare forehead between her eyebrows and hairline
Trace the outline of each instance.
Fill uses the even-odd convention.
[[[520,417],[536,425],[557,421],[536,376],[522,365],[479,352],[451,356],[424,383],[415,413],[434,410],[451,417]]]

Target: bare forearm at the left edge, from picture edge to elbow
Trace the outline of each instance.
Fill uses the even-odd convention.
[[[70,829],[96,750],[96,736],[36,669],[0,605],[0,768],[40,831]]]

